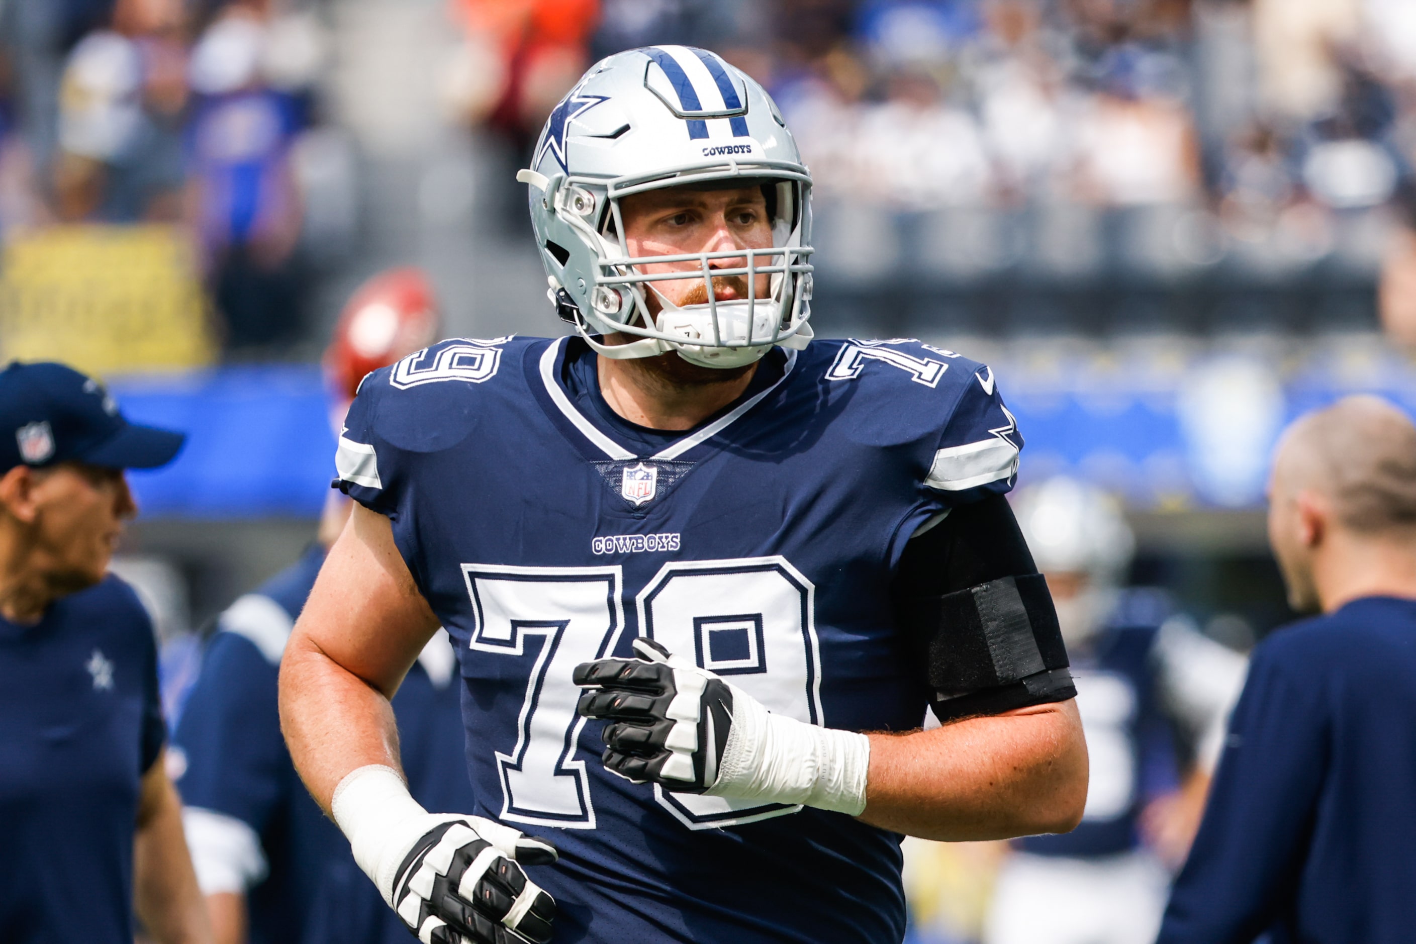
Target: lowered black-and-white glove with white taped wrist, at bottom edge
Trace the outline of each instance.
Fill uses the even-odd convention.
[[[354,860],[423,944],[547,944],[555,902],[520,863],[549,842],[483,817],[426,812],[392,767],[350,773],[330,804]]]

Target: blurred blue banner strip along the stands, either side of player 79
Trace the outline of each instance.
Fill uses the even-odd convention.
[[[1024,484],[1066,473],[1134,508],[1257,507],[1283,427],[1340,396],[1378,393],[1416,413],[1416,369],[1372,335],[1205,351],[1038,340],[976,355],[987,355],[1027,440]],[[129,378],[113,392],[133,420],[188,434],[171,466],[132,474],[143,514],[319,515],[334,474],[319,368]]]

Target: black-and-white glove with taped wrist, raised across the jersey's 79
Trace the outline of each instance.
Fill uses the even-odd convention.
[[[773,715],[718,675],[637,638],[639,658],[575,667],[576,710],[605,726],[605,767],[666,790],[858,815],[869,739]]]

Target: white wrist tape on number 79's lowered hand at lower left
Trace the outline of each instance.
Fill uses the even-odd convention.
[[[438,822],[464,819],[433,817],[408,793],[398,771],[382,764],[358,767],[334,788],[330,812],[384,902],[394,907],[394,879],[404,858]]]

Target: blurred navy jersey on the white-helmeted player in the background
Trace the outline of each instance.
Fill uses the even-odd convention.
[[[1093,645],[1068,651],[1090,759],[1086,810],[1072,832],[1027,836],[1021,849],[1054,856],[1133,849],[1146,800],[1175,787],[1175,742],[1153,665],[1157,634],[1157,627],[1112,627]]]

